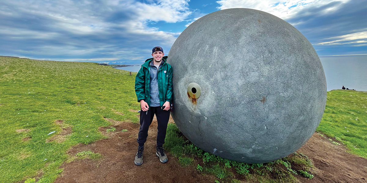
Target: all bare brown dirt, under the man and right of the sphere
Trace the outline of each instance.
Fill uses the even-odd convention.
[[[111,119],[106,119],[111,120]],[[169,153],[168,162],[160,163],[155,154],[157,121],[149,128],[148,139],[143,153],[143,164],[134,165],[137,151],[137,135],[139,124],[117,122],[112,120],[116,132],[106,132],[107,127],[99,130],[108,139],[103,139],[89,145],[77,145],[69,150],[70,156],[83,150],[91,150],[102,154],[100,160],[81,159],[64,163],[60,168],[64,171],[55,183],[191,183],[214,182],[215,176],[201,175],[195,167],[182,168]],[[170,123],[173,120],[170,119]],[[121,130],[127,129],[127,132]],[[318,134],[313,134],[310,140],[297,152],[308,156],[315,165],[313,179],[297,176],[304,183],[362,183],[367,182],[367,159],[346,152],[343,145],[334,145]]]

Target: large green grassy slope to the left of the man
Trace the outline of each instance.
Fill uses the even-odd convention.
[[[104,117],[139,122],[135,75],[96,63],[40,61],[0,57],[0,182],[34,178],[53,182],[78,143],[105,138]],[[132,111],[131,110],[131,111]],[[124,113],[119,115],[115,112]],[[61,132],[55,120],[72,126],[62,143],[48,142]],[[16,132],[18,129],[29,132]],[[51,131],[57,131],[47,135]],[[29,141],[22,138],[29,137]]]

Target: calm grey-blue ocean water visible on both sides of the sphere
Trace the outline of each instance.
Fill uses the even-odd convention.
[[[320,57],[324,68],[327,91],[349,89],[367,91],[367,55]],[[118,69],[138,72],[141,66]]]

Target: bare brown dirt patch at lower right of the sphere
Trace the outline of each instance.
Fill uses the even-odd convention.
[[[300,182],[367,182],[367,159],[347,153],[344,145],[334,145],[316,132],[297,152],[308,156],[316,167],[313,179],[299,176]]]

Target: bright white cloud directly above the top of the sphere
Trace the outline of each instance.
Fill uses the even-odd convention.
[[[293,18],[299,11],[305,8],[317,8],[335,0],[219,0],[217,3],[220,5],[219,10],[228,8],[251,8],[255,10],[261,10],[275,15],[282,19]],[[350,0],[338,0],[342,3],[346,3]],[[328,14],[331,11],[337,10],[341,5],[335,4],[333,7],[327,8],[323,11],[324,14]],[[312,14],[309,12],[309,14]]]

